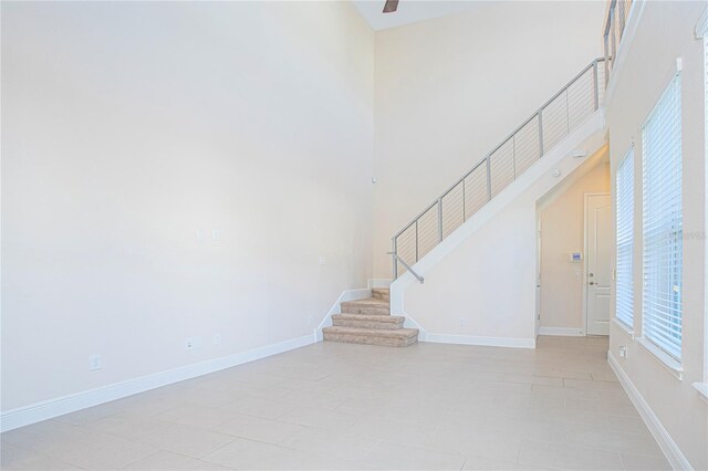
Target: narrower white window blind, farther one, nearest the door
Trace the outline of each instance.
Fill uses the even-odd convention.
[[[634,148],[617,167],[616,224],[617,264],[615,317],[629,328],[634,326]]]

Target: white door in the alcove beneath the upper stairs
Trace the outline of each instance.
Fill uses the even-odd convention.
[[[610,195],[589,195],[586,206],[586,303],[587,335],[610,334],[612,270],[612,208]]]

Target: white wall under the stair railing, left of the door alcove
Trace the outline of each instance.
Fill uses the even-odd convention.
[[[606,158],[602,122],[594,115],[415,264],[424,284],[409,273],[393,283],[392,311],[421,325],[427,341],[533,347],[537,205]],[[574,148],[590,156],[573,158]]]

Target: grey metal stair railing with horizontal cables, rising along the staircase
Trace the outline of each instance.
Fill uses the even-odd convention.
[[[420,260],[600,108],[605,92],[603,62],[604,59],[596,59],[583,69],[393,237],[394,279],[406,271],[406,265]]]

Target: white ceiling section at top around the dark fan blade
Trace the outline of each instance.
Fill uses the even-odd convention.
[[[382,13],[385,0],[352,0],[371,27],[378,31],[480,7],[475,0],[400,0],[398,11]]]

